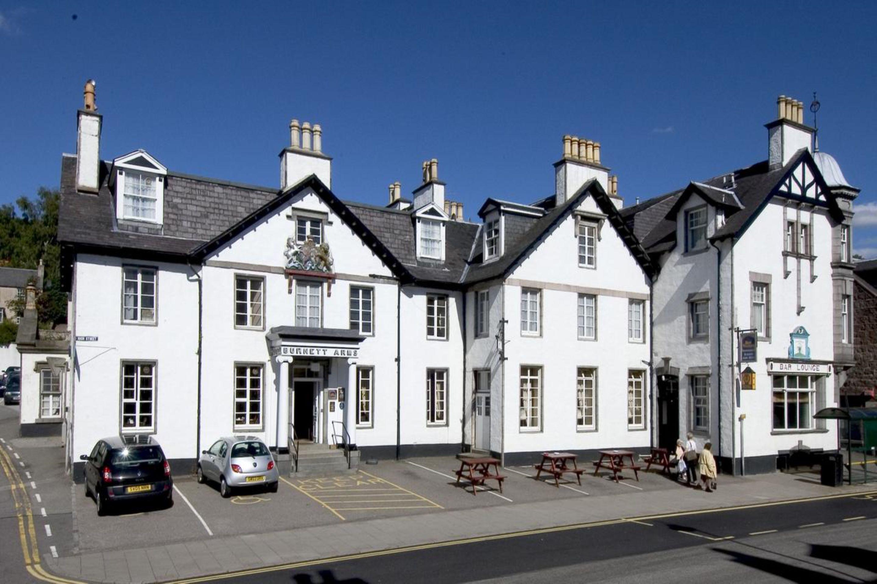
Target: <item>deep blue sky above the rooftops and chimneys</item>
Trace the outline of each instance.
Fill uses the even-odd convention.
[[[103,158],[279,186],[296,117],[343,199],[385,204],[438,158],[475,219],[553,193],[563,134],[602,144],[632,204],[765,159],[776,96],[816,91],[877,257],[875,22],[877,3],[0,1],[0,203],[58,185],[89,78]]]

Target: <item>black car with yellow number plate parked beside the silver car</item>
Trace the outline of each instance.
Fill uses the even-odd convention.
[[[97,440],[85,461],[85,496],[94,496],[97,515],[111,506],[136,501],[173,503],[170,465],[152,436],[111,436]]]

